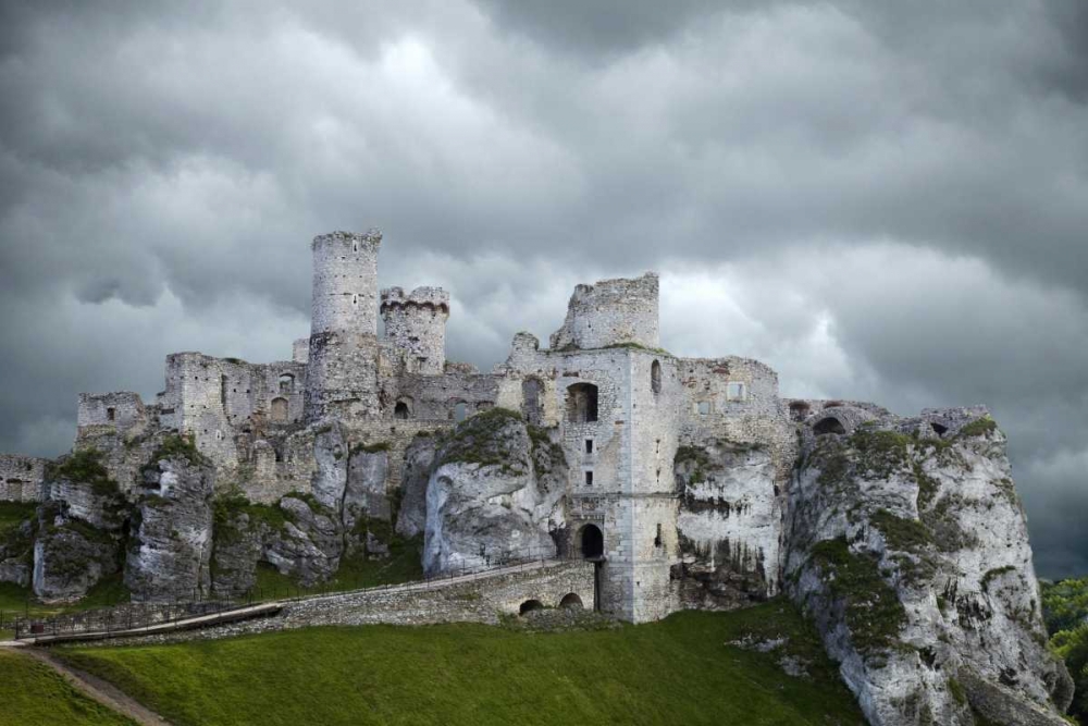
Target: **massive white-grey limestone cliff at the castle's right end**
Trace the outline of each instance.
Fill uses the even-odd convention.
[[[970,726],[975,713],[1065,723],[1071,682],[1047,649],[1024,513],[993,420],[949,411],[853,431],[817,421],[804,438],[787,588],[870,723]]]

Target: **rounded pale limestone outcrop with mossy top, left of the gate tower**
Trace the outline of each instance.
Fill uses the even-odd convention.
[[[500,408],[460,423],[440,445],[426,488],[423,568],[553,556],[564,524],[565,460],[543,432]]]

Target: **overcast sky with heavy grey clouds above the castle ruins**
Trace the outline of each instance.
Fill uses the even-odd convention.
[[[297,4],[0,2],[0,451],[174,350],[289,357],[309,239],[376,226],[454,359],[654,269],[678,355],[986,403],[1088,574],[1084,0]]]

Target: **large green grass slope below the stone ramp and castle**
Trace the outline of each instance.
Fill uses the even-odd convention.
[[[729,644],[750,635],[789,644]],[[787,652],[809,678],[783,673]],[[864,724],[815,632],[781,601],[593,631],[310,628],[58,654],[178,726]]]

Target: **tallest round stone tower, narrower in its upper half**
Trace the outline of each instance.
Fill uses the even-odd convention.
[[[378,414],[378,249],[382,233],[313,238],[308,420]]]

